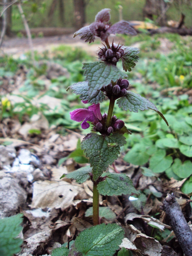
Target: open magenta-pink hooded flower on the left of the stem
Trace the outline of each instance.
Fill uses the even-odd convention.
[[[87,101],[83,101],[83,103],[87,103]],[[97,124],[101,119],[101,111],[100,111],[100,104],[92,104],[91,106],[87,108],[77,108],[70,112],[70,117],[72,120],[81,122],[82,129],[89,128],[89,124],[87,121],[94,122],[94,124]]]

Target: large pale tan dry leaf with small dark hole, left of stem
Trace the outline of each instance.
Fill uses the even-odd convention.
[[[69,205],[73,204],[74,197],[81,192],[82,189],[83,188],[79,186],[71,185],[63,180],[34,182],[31,207],[61,208],[63,211]]]

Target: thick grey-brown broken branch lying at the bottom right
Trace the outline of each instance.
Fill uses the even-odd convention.
[[[192,256],[192,231],[177,203],[173,193],[167,194],[163,201],[163,210],[166,212],[173,232],[186,256]]]

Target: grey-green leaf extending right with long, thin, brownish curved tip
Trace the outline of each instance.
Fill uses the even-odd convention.
[[[156,106],[148,99],[145,99],[144,97],[142,97],[140,94],[127,91],[127,95],[118,99],[117,104],[119,105],[119,108],[122,107],[125,111],[129,109],[131,112],[132,111],[138,112],[138,109],[140,110],[148,110],[149,108],[153,109],[159,114],[159,116],[163,118],[165,123],[169,125],[164,115],[156,108]]]

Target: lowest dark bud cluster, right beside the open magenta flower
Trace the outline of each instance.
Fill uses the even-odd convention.
[[[119,120],[116,116],[113,116],[111,119],[111,124],[107,128],[105,127],[105,123],[107,120],[107,114],[105,113],[102,116],[101,120],[98,120],[99,122],[94,124],[93,131],[100,132],[103,135],[109,135],[110,133],[116,132],[116,130],[122,129],[124,127],[124,121]]]

